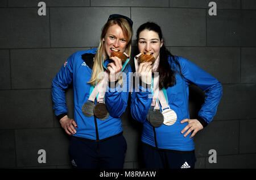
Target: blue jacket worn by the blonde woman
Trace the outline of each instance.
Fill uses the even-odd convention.
[[[78,127],[77,133],[73,136],[90,140],[106,139],[123,131],[120,116],[127,107],[129,97],[129,91],[118,91],[121,89],[119,84],[116,89],[108,87],[105,93],[105,104],[110,114],[109,118],[100,120],[94,116],[88,118],[82,114],[82,105],[88,101],[90,94],[90,84],[87,82],[92,75],[93,64],[93,60],[92,62],[86,60],[87,57],[90,57],[86,55],[94,57],[96,51],[97,48],[94,48],[71,55],[52,81],[53,110],[55,110],[56,116],[67,114],[65,89],[73,82],[74,120]],[[88,63],[91,64],[91,68],[89,68]],[[124,72],[127,73],[127,76],[129,75],[128,72],[131,72],[130,65],[126,66]],[[128,83],[128,81],[123,83]]]

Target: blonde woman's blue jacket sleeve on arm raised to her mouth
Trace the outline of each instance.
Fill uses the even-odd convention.
[[[123,74],[123,85],[119,85],[116,81],[115,86],[109,86],[105,93],[105,104],[108,108],[110,116],[113,118],[120,118],[123,112],[125,112],[127,107],[127,102],[129,98],[129,89],[130,89],[130,75],[131,67],[127,65]]]

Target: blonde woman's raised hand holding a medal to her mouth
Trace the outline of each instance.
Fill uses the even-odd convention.
[[[109,71],[109,81],[117,81],[118,76],[117,74],[121,72],[123,66],[122,66],[122,61],[119,57],[109,57],[111,60],[114,62],[110,62],[107,65],[107,69]]]

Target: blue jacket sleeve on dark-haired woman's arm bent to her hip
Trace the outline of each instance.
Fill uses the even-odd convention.
[[[217,112],[222,97],[221,82],[185,58],[179,57],[179,63],[186,82],[192,82],[205,91],[205,101],[198,114],[198,120],[205,127]]]

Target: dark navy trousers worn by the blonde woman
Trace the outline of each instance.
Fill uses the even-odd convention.
[[[122,134],[102,141],[72,136],[69,155],[74,168],[122,169],[126,149]]]

